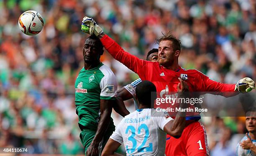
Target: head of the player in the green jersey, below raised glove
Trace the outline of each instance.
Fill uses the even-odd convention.
[[[84,62],[92,63],[99,61],[100,55],[103,54],[103,49],[100,48],[97,40],[87,38],[83,47]]]

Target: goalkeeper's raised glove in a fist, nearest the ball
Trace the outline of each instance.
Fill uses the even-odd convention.
[[[96,24],[95,20],[87,16],[85,16],[82,20],[81,30],[90,35],[94,33],[95,36],[99,36],[101,33],[103,33],[102,28]]]

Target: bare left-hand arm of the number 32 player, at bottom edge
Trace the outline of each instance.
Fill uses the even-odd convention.
[[[118,153],[115,153],[115,151],[118,149],[118,147],[121,144],[117,141],[114,141],[113,139],[108,139],[108,142],[106,143],[105,148],[102,151],[101,156],[123,156]]]

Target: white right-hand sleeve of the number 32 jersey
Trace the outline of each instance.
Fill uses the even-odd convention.
[[[169,114],[167,112],[155,112],[154,115],[152,115],[154,118],[154,121],[156,123],[156,125],[158,125],[158,127],[161,130],[164,130],[164,126],[169,123],[169,121],[174,120],[173,118],[171,118],[169,116]]]

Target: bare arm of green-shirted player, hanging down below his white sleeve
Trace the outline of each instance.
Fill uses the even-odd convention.
[[[99,155],[99,144],[110,122],[110,115],[113,108],[113,100],[100,100],[100,121],[98,123],[95,137],[86,151],[87,156]]]

